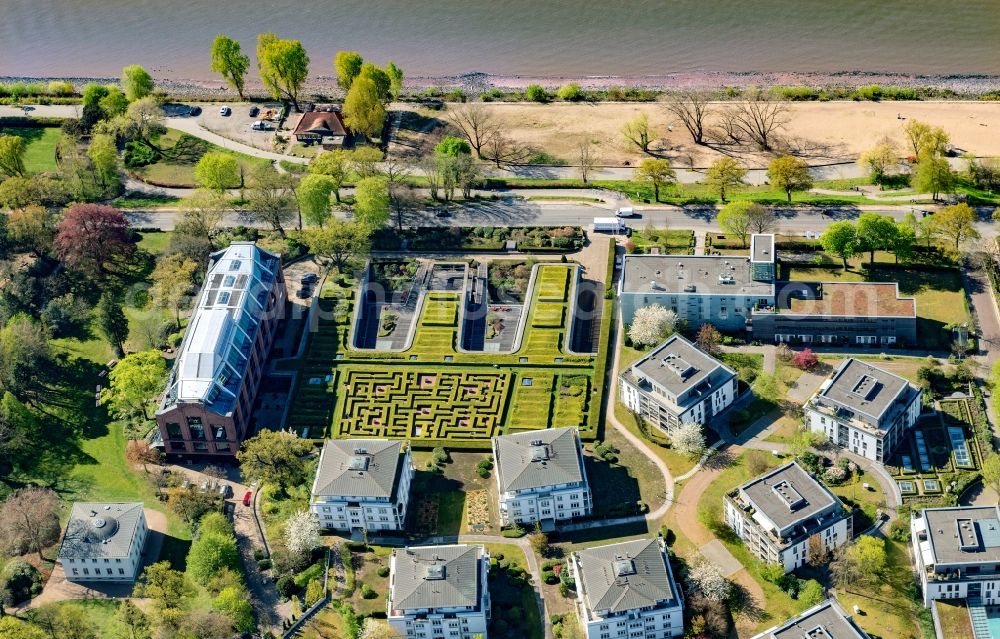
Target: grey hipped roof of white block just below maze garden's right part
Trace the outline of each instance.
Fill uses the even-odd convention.
[[[496,438],[500,490],[527,490],[585,481],[576,428],[531,430]]]

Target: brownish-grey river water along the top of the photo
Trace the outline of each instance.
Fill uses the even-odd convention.
[[[1000,0],[0,0],[0,75],[212,79],[227,33],[408,75],[1000,74]]]

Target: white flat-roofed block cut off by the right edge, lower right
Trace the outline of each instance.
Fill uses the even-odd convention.
[[[910,533],[925,606],[1000,604],[1000,506],[925,508],[913,513]]]

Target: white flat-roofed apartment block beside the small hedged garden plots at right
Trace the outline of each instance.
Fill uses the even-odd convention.
[[[845,450],[885,463],[920,417],[921,397],[899,375],[849,358],[806,402],[806,424]]]

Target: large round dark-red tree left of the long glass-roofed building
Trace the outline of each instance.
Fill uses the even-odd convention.
[[[56,255],[70,268],[88,275],[104,275],[109,264],[135,253],[128,221],[110,206],[74,204],[56,228]]]

